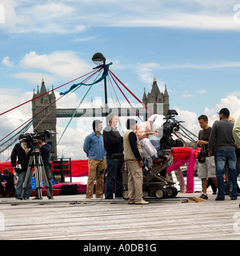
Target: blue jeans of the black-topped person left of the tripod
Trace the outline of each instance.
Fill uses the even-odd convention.
[[[18,174],[18,184],[16,186],[15,198],[21,198],[22,185],[23,185],[23,182],[25,181],[25,177],[26,177],[26,171],[22,171],[21,174]],[[30,174],[27,179],[26,189],[24,191],[23,198],[30,198],[30,195],[32,192],[32,177],[33,177],[33,172],[32,170],[30,170]]]

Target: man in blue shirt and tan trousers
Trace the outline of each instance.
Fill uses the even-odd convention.
[[[86,188],[86,198],[93,198],[94,180],[96,177],[96,198],[102,198],[103,195],[103,174],[99,170],[106,169],[106,150],[104,148],[102,131],[102,122],[95,120],[93,122],[93,130],[87,135],[83,144],[83,150],[88,159],[88,180]]]

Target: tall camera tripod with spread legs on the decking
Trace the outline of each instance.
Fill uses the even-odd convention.
[[[34,175],[35,175],[35,181],[36,181],[36,192],[38,192],[38,198],[42,199],[42,179],[44,182],[44,186],[46,187],[47,197],[51,198],[49,183],[46,178],[46,171],[44,170],[41,152],[37,149],[34,149],[32,151],[32,153],[30,154],[30,161],[28,163],[28,167],[26,170],[26,177],[25,177],[25,180],[22,185],[22,195],[21,195],[20,199],[23,198],[23,194],[26,190],[26,184],[27,184],[33,164],[34,164],[34,169],[35,169]],[[37,194],[36,194],[36,196],[37,196]]]

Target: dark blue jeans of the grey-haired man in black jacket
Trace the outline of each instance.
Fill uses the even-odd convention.
[[[105,181],[105,198],[113,199],[113,188],[115,188],[115,198],[122,198],[122,161],[106,159],[107,176]]]

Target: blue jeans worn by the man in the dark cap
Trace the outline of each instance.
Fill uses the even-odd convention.
[[[230,198],[238,196],[237,193],[237,170],[235,150],[218,150],[214,153],[216,177],[218,179],[218,198],[225,199],[224,169],[228,166],[230,174]]]

